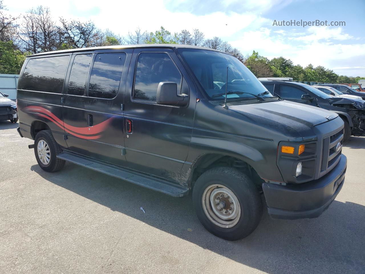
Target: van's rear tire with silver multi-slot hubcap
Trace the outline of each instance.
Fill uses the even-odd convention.
[[[56,156],[62,152],[61,146],[54,140],[50,130],[42,130],[34,139],[34,154],[38,165],[47,172],[55,172],[65,165],[65,160]]]

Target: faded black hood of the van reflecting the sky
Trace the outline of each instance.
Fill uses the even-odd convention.
[[[332,111],[285,100],[230,106],[229,108],[243,113],[251,113],[265,117],[290,126],[293,129],[299,129],[299,131],[302,125],[312,128],[315,125],[327,122],[338,116]]]

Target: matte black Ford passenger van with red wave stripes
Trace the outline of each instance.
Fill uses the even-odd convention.
[[[43,170],[70,161],[174,197],[192,190],[204,227],[228,240],[257,227],[260,194],[273,218],[312,218],[345,178],[337,114],[281,100],[237,58],[203,47],[29,56],[18,111]]]

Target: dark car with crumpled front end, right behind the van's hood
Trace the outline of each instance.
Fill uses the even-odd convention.
[[[261,81],[274,95],[285,100],[303,103],[337,113],[345,123],[344,141],[351,135],[365,136],[365,104],[363,100],[331,97],[316,88],[302,83]]]

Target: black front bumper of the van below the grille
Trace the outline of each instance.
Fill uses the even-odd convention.
[[[317,180],[287,186],[263,183],[270,217],[292,220],[318,217],[341,190],[346,167],[347,158],[341,155],[333,170]]]

